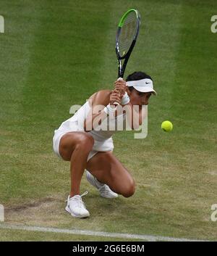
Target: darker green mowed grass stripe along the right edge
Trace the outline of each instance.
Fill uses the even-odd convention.
[[[162,184],[174,192],[174,214],[179,211],[189,216],[187,230],[204,236],[209,230],[216,239],[215,225],[210,221],[217,183],[217,37],[210,33],[210,15],[215,6],[216,1],[210,1],[209,6],[206,1],[184,1],[182,5],[181,38],[169,108],[174,132],[169,140],[164,136],[162,141],[166,145],[164,154],[169,157],[167,163],[162,162]]]

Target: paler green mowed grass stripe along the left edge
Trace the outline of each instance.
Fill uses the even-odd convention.
[[[20,157],[22,149],[28,147],[22,138],[25,117],[20,113],[20,105],[29,72],[34,31],[38,26],[38,12],[33,1],[29,4],[1,1],[0,10],[5,20],[5,33],[0,37],[0,202],[4,203],[17,194],[22,197],[22,186],[27,181],[22,175],[27,162]]]

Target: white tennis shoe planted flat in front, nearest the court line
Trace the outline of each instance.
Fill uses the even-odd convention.
[[[85,207],[85,203],[82,202],[82,197],[88,194],[86,191],[81,196],[79,194],[67,199],[67,206],[65,210],[69,212],[75,218],[86,218],[90,216],[90,212]]]

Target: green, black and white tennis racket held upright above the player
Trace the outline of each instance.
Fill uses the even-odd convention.
[[[129,56],[137,41],[140,29],[140,13],[136,9],[129,9],[124,13],[116,32],[116,57],[118,60],[118,80],[124,77]],[[122,62],[124,62],[122,64]],[[119,105],[114,102],[114,105]]]

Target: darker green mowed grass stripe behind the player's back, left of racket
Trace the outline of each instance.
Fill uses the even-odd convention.
[[[20,30],[20,35],[24,32],[27,38],[30,33],[34,41],[29,47],[30,57],[25,60],[28,61],[25,81],[21,83],[20,94],[14,96],[19,104],[10,103],[16,122],[9,123],[7,131],[10,138],[15,136],[14,144],[17,146],[11,144],[9,148],[5,146],[2,149],[1,159],[6,158],[2,165],[7,168],[4,186],[1,186],[3,203],[19,198],[43,197],[58,193],[59,189],[65,193],[65,186],[58,183],[62,166],[66,170],[64,183],[69,186],[69,167],[54,155],[52,137],[54,129],[70,117],[72,104],[82,104],[96,91],[101,77],[103,38],[109,20],[106,18],[109,4],[101,5],[101,9],[93,1],[83,4],[81,7],[75,1],[67,4],[38,1],[30,4],[29,12],[24,8],[25,17],[20,18],[23,23],[18,26],[29,22],[29,27],[27,31]],[[25,2],[23,5],[25,7]],[[14,12],[17,8],[15,5]],[[35,23],[37,26],[33,27]],[[25,44],[14,44],[13,51],[21,51],[22,47],[25,52]],[[7,70],[4,73],[10,81],[11,73]],[[17,80],[20,80],[24,75],[22,70],[18,75]],[[10,83],[9,86],[14,85]],[[13,118],[13,111],[7,122]],[[55,161],[58,162],[58,170]],[[59,189],[55,188],[53,180],[57,173]],[[38,189],[39,183],[41,189]]]

